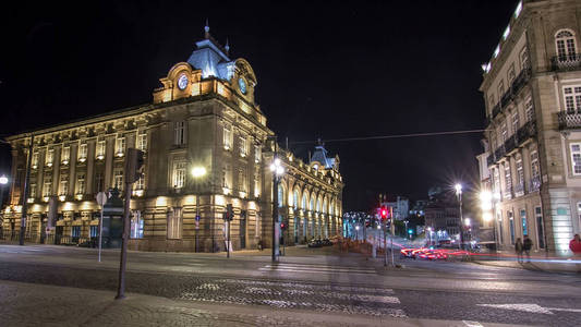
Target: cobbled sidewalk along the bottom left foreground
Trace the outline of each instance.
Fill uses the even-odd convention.
[[[2,326],[471,326],[406,319],[175,301],[129,293],[0,281]],[[482,324],[473,326],[508,326]]]

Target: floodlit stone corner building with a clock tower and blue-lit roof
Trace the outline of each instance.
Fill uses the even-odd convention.
[[[153,104],[9,137],[14,179],[2,211],[4,237],[17,237],[26,201],[28,241],[53,242],[50,234],[60,243],[94,239],[100,211],[95,195],[117,187],[121,196],[132,192],[130,249],[223,251],[227,204],[234,207],[234,250],[256,249],[261,240],[270,246],[269,166],[279,147],[254,100],[257,80],[250,63],[231,60],[228,46],[206,26],[189,60],[160,82]],[[31,142],[31,186],[23,199]],[[145,153],[145,173],[133,190],[123,190],[129,147]],[[338,234],[339,157],[327,158],[318,146],[307,162],[289,150],[278,150],[278,158],[286,170],[277,190],[279,219],[288,221],[285,243]]]

